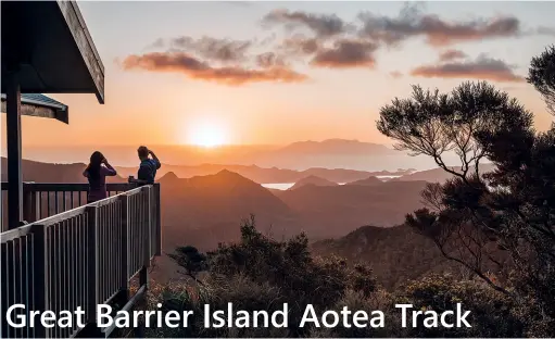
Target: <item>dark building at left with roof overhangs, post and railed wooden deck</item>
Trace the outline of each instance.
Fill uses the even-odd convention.
[[[0,338],[108,337],[114,327],[98,328],[97,305],[135,307],[161,253],[160,185],[109,184],[109,198],[87,204],[87,184],[23,183],[22,115],[70,124],[68,106],[43,93],[91,93],[103,104],[104,66],[75,1],[2,1],[1,15],[8,181],[1,185]],[[18,318],[80,307],[86,326],[47,328],[40,316],[33,327],[9,326],[7,312],[16,304],[25,306],[15,310]]]

